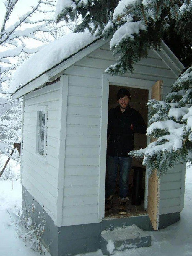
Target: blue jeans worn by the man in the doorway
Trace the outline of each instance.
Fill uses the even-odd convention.
[[[107,156],[106,190],[105,198],[113,195],[119,165],[119,197],[124,199],[128,193],[129,170],[131,169],[132,157]]]

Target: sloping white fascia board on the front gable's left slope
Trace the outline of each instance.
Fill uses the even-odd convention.
[[[110,39],[104,41],[103,38],[100,38],[96,42],[92,43],[91,45],[87,46],[83,50],[79,51],[77,54],[71,56],[71,58],[67,59],[66,61],[62,62],[61,64],[57,65],[53,69],[49,70],[46,72],[48,79],[50,82],[53,80],[57,79],[58,77],[61,76],[61,72],[64,71],[64,69],[70,67],[71,65],[75,64],[77,61],[80,59],[83,59],[85,56],[90,54],[92,51],[95,51],[105,43],[110,41]]]

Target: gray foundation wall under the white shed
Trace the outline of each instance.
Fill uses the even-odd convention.
[[[22,186],[22,192],[26,191]],[[25,192],[26,206],[29,208],[32,203],[35,205],[34,220],[43,213],[43,205],[40,205],[28,191]],[[43,242],[52,256],[72,256],[79,253],[94,252],[100,249],[100,233],[105,230],[113,230],[115,227],[130,226],[135,224],[144,231],[152,231],[152,225],[148,215],[135,216],[129,218],[106,219],[100,223],[91,223],[74,226],[57,227],[53,220],[45,212],[45,233]],[[177,222],[180,219],[180,213],[163,214],[159,217],[159,229]]]

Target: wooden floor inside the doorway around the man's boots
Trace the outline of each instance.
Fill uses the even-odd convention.
[[[127,218],[130,216],[139,216],[139,215],[146,215],[147,211],[144,210],[144,201],[141,202],[141,205],[132,205],[131,204],[131,198],[128,198],[128,201],[126,202],[127,207],[127,214],[126,215],[120,215],[118,214],[118,196],[113,196],[113,209],[110,211],[105,211],[105,218]]]

